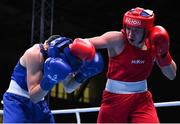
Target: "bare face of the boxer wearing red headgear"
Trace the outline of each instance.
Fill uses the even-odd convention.
[[[141,44],[145,34],[145,29],[138,27],[126,27],[126,35],[128,41],[134,45],[139,46]]]

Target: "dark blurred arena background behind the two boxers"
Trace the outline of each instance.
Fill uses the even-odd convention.
[[[44,4],[43,4],[44,3]],[[0,1],[0,100],[7,90],[11,72],[19,57],[31,45],[43,42],[50,34],[70,38],[92,37],[106,31],[120,30],[124,12],[133,7],[149,8],[156,14],[155,23],[170,35],[170,53],[180,66],[178,42],[180,14],[176,1],[165,0],[1,0]],[[43,16],[42,16],[43,15]],[[43,17],[43,19],[42,19]],[[100,50],[106,60],[104,72],[87,81],[76,93],[58,97],[58,88],[47,98],[51,109],[100,106],[106,82],[107,51]],[[154,102],[180,101],[179,69],[170,81],[154,66],[148,79]],[[88,89],[87,89],[88,88]],[[88,92],[88,98],[85,95]],[[1,109],[3,105],[1,104]],[[161,122],[180,122],[180,107],[157,108]],[[56,122],[76,122],[75,114],[55,115]],[[82,113],[81,122],[95,123],[97,112]]]

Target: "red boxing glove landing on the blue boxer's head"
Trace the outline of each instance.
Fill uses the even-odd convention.
[[[76,38],[70,45],[70,51],[81,60],[91,61],[95,57],[95,47],[89,40]]]

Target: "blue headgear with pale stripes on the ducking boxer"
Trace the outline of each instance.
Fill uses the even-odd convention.
[[[67,37],[59,37],[49,42],[48,57],[60,57],[60,53],[63,53],[64,48],[68,47],[70,43],[72,43],[72,39]]]

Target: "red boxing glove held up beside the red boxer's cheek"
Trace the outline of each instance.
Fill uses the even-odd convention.
[[[158,64],[163,67],[171,64],[172,58],[169,53],[169,35],[162,26],[155,26],[150,32],[149,39],[155,46],[156,59]]]

